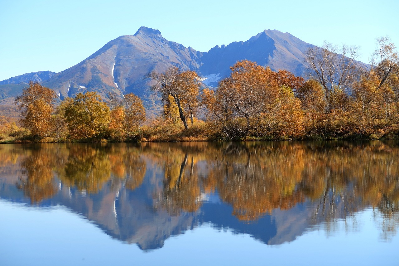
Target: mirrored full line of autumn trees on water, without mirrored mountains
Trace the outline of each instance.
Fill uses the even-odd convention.
[[[4,148],[5,147],[5,148]],[[173,214],[193,212],[204,193],[217,192],[233,215],[255,220],[275,208],[306,202],[311,223],[333,226],[373,207],[382,237],[399,223],[399,149],[377,142],[245,142],[65,144],[0,147],[0,165],[20,162],[25,175],[19,189],[39,202],[56,192],[54,174],[66,186],[97,193],[136,189],[149,162],[162,171],[154,176],[156,206]],[[151,177],[149,177],[151,178]],[[14,181],[13,181],[14,182]]]

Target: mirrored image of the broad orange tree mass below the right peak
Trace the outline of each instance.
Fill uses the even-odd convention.
[[[255,220],[274,208],[288,209],[303,197],[296,191],[303,149],[284,143],[231,143],[210,164],[205,183],[214,183],[233,215]]]

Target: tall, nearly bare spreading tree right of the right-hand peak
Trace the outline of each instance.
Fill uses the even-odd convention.
[[[305,52],[306,62],[311,69],[310,77],[316,79],[324,88],[327,111],[330,112],[330,94],[335,88],[345,91],[356,79],[356,58],[359,56],[359,46],[338,48],[324,42],[323,47],[314,46]]]

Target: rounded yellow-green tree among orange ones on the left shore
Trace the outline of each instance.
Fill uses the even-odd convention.
[[[109,107],[95,91],[78,93],[65,107],[65,121],[73,139],[101,137],[109,119]]]

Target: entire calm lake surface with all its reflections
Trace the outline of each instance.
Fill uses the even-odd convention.
[[[399,265],[398,142],[0,145],[0,265]]]

